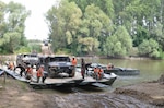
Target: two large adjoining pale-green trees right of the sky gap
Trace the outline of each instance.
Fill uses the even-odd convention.
[[[99,45],[103,45],[99,44],[103,43],[101,40],[105,40],[112,29],[109,17],[94,4],[87,5],[82,14],[74,2],[65,0],[59,8],[51,8],[46,19],[55,52],[58,49],[69,49],[72,55],[95,53]],[[86,44],[90,40],[95,44]]]

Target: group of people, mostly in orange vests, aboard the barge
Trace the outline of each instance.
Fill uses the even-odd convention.
[[[71,60],[72,62],[72,65],[77,65],[77,58],[72,58]],[[82,79],[85,77],[85,75],[87,74],[87,68],[91,65],[92,63],[85,63],[84,59],[82,58],[81,59],[81,75],[82,75]],[[25,74],[25,79],[26,80],[30,80],[30,81],[33,81],[32,79],[34,77],[34,75],[36,75],[37,80],[36,82],[39,83],[40,80],[42,80],[42,83],[45,82],[46,77],[48,76],[48,73],[45,73],[44,72],[44,65],[42,64],[38,69],[36,69],[36,72],[33,72],[33,68],[31,65],[26,65],[26,64],[19,64],[19,65],[14,65],[14,62],[10,61],[8,63],[8,69],[10,70],[13,70],[15,71],[16,69],[20,69],[20,75],[23,76],[23,73]],[[93,69],[94,71],[94,77],[96,80],[101,80],[104,75],[104,71],[101,67],[95,67]],[[35,74],[36,73],[36,74]]]

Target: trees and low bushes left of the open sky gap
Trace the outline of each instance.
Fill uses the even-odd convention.
[[[27,40],[24,35],[25,21],[31,11],[16,2],[0,1],[0,53],[40,51],[40,41]]]

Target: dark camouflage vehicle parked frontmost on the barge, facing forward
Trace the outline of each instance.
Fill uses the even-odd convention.
[[[68,56],[39,57],[37,69],[42,64],[45,65],[45,71],[48,72],[49,77],[59,77],[61,74],[73,77],[75,73],[75,68]]]

